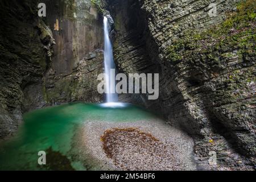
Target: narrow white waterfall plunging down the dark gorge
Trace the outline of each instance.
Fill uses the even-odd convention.
[[[106,102],[117,102],[118,95],[115,93],[115,63],[113,59],[113,48],[109,38],[109,21],[104,16],[104,68],[106,74]]]

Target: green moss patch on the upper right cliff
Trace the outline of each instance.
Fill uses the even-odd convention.
[[[220,25],[199,34],[195,34],[193,30],[185,32],[183,38],[174,41],[168,48],[169,60],[176,64],[182,61],[183,55],[195,56],[203,53],[209,60],[220,61],[224,59],[216,59],[218,51],[225,52],[228,49],[238,50],[241,58],[254,57],[255,10],[254,0],[242,1],[238,4],[237,11],[229,13],[228,19]]]

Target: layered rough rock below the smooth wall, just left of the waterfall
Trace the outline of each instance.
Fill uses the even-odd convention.
[[[104,52],[96,49],[77,63],[77,68],[67,75],[57,75],[51,68],[44,80],[44,99],[47,105],[66,102],[102,102],[97,91],[97,76],[103,72]]]

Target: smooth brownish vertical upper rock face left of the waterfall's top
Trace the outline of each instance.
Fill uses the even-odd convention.
[[[56,42],[52,69],[56,74],[71,73],[86,54],[102,49],[102,17],[90,0],[44,2],[48,12],[46,22]]]

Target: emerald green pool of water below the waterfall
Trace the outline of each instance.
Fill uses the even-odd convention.
[[[133,122],[154,117],[146,110],[128,104],[109,108],[97,104],[76,103],[31,111],[23,115],[24,122],[15,137],[0,143],[0,170],[49,169],[38,165],[38,152],[47,151],[49,148],[55,152],[51,160],[67,160],[73,169],[86,170],[70,154],[72,138],[83,123]],[[58,168],[57,160],[55,166]]]

